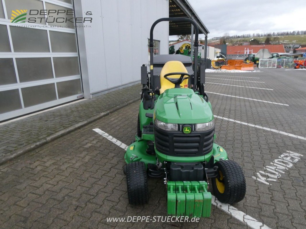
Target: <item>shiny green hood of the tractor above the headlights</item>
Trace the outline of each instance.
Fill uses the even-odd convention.
[[[202,96],[188,88],[167,89],[156,101],[155,118],[166,123],[211,122],[211,107]]]

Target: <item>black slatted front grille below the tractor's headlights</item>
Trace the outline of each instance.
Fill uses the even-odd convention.
[[[165,131],[154,125],[156,149],[169,156],[195,157],[211,152],[215,127],[208,131]]]

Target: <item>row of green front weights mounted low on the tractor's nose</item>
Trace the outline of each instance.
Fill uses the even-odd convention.
[[[168,181],[169,216],[209,217],[211,193],[205,181]]]

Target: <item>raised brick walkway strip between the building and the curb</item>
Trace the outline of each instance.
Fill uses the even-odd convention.
[[[140,84],[0,125],[0,158],[78,122],[139,97]]]

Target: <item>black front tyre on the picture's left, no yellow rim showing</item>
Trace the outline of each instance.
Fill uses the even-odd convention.
[[[147,171],[144,162],[126,165],[126,185],[130,204],[143,205],[148,202]]]

